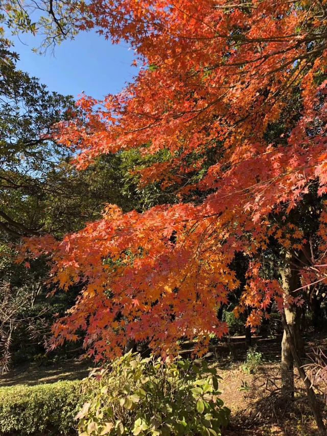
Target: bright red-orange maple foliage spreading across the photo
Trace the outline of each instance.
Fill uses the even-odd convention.
[[[144,67],[118,95],[83,96],[83,123],[57,127],[57,140],[78,149],[78,167],[102,153],[169,150],[170,159],[146,168],[143,179],[166,187],[194,171],[191,153],[215,149],[219,159],[185,187],[211,192],[200,204],[143,214],[108,206],[102,220],[60,243],[26,242],[23,250],[34,255],[51,251],[61,287],[85,282],[54,326],[56,343],[83,330],[85,346],[99,357],[121,353],[126,337],[172,353],[176,339],[197,336],[204,350],[208,333],[226,332],[216,312],[239,286],[230,267],[235,253],[254,258],[268,238],[300,246],[300,234],[285,233],[269,216],[287,216],[311,183],[319,195],[327,192],[327,81],[319,80],[327,68],[326,24],[325,0],[90,2],[80,28],[128,41]],[[301,108],[294,119],[295,95]],[[276,122],[283,134],[269,142]],[[197,170],[205,164],[200,157]],[[273,298],[282,307],[283,291],[253,265],[260,269],[250,264],[241,303],[254,308],[255,327]]]

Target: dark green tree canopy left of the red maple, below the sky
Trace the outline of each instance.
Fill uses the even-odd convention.
[[[137,151],[103,156],[77,171],[74,152],[52,135],[55,123],[78,116],[73,97],[51,93],[19,71],[4,36],[0,51],[0,231],[13,238],[59,236],[98,218],[105,203],[128,211],[164,201],[158,186],[138,186],[134,170],[149,159]]]

